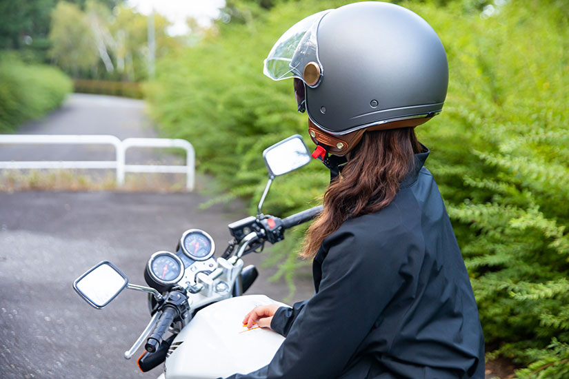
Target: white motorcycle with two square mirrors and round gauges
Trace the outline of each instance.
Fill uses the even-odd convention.
[[[243,267],[243,256],[259,252],[265,243],[277,243],[284,232],[315,218],[322,207],[312,207],[286,218],[265,215],[261,207],[274,178],[310,162],[310,152],[299,135],[290,136],[263,152],[268,181],[257,206],[257,215],[228,225],[232,240],[219,258],[214,257],[211,236],[189,229],[175,252],[159,251],[146,263],[148,286],[129,283],[117,266],[103,260],[73,283],[87,303],[103,309],[125,289],[148,293],[150,322],[132,347],[130,359],[144,342],[138,359],[146,372],[161,363],[159,379],[210,379],[248,373],[267,365],[283,342],[283,336],[254,325],[243,317],[258,305],[279,303],[264,295],[243,296],[259,275],[256,267]],[[197,346],[199,345],[199,348]],[[254,351],[254,354],[251,352]],[[218,356],[231,356],[223,360]]]

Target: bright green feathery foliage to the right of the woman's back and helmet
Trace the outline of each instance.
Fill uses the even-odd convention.
[[[509,3],[460,23],[448,20],[464,12],[458,3],[443,17],[419,12],[443,37],[451,75],[445,115],[419,134],[434,147],[429,167],[487,345],[520,364],[561,361],[563,349],[545,348],[569,342],[569,28],[555,2],[546,5]],[[561,378],[563,367],[520,376]]]

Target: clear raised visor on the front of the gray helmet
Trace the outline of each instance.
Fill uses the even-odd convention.
[[[317,63],[320,72],[323,74],[323,68],[318,58],[316,31],[322,17],[328,12],[330,10],[312,14],[312,16],[302,19],[287,30],[274,44],[267,59],[265,59],[263,74],[275,81],[287,78],[299,78],[305,81],[303,71],[309,62]],[[318,83],[310,85],[310,87],[317,85]]]

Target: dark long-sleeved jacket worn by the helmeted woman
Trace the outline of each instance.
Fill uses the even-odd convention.
[[[231,379],[484,377],[477,305],[427,156],[388,207],[323,240],[315,295],[274,314],[277,354]]]

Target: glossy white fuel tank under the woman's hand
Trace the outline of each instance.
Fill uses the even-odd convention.
[[[237,296],[201,309],[180,331],[166,358],[166,379],[214,379],[267,365],[284,337],[269,329],[243,326],[257,305],[277,303],[265,295]]]

